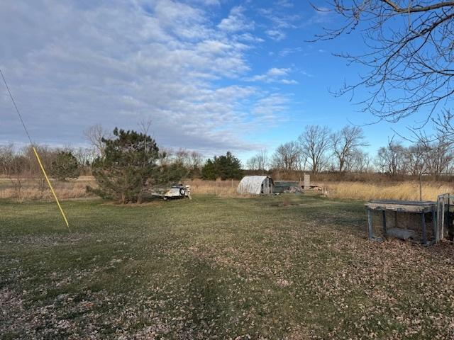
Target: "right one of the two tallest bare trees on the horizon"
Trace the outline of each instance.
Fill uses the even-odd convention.
[[[345,169],[345,162],[354,155],[358,156],[358,149],[367,145],[362,129],[348,125],[331,135],[331,143],[338,162],[338,170],[341,172]]]

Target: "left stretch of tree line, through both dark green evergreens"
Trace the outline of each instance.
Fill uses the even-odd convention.
[[[96,186],[87,186],[87,191],[119,203],[140,203],[153,196],[154,188],[172,186],[182,179],[243,176],[240,160],[231,152],[204,162],[193,150],[158,147],[148,135],[150,124],[140,126],[142,132],[118,128],[106,132],[95,125],[85,132],[92,148],[34,147],[52,179],[68,181],[81,174],[92,175]],[[26,180],[45,188],[32,146],[0,145],[0,174],[9,178],[19,199]]]

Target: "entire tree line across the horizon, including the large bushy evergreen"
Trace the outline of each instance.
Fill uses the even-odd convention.
[[[92,147],[36,148],[52,179],[67,181],[93,175],[97,186],[88,191],[122,203],[140,202],[150,188],[170,186],[183,179],[241,179],[246,169],[391,176],[452,174],[454,169],[452,142],[441,131],[436,139],[419,134],[409,146],[389,140],[371,157],[364,150],[368,144],[361,128],[346,125],[332,131],[326,126],[308,125],[297,140],[279,145],[270,157],[262,149],[243,166],[231,152],[204,159],[194,150],[158,147],[148,135],[150,123],[140,126],[141,132],[118,128],[108,132],[94,125],[85,132]],[[45,186],[31,146],[0,145],[0,171],[18,193],[25,179],[36,179]]]

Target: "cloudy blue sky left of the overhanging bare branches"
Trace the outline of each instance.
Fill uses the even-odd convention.
[[[364,71],[333,55],[360,51],[359,35],[309,42],[336,21],[309,1],[2,0],[0,68],[40,144],[84,146],[91,125],[151,120],[158,145],[245,162],[305,125],[353,123],[375,154],[419,118],[370,124],[360,91],[333,96]],[[0,128],[0,144],[27,142],[4,86]]]

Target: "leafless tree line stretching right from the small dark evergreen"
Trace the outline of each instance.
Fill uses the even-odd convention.
[[[365,152],[367,146],[360,127],[346,125],[332,131],[326,126],[308,125],[297,140],[279,145],[271,156],[260,150],[246,164],[254,171],[310,171],[312,174],[331,171],[416,176],[454,171],[452,141],[442,131],[431,138],[419,133],[409,146],[391,139],[373,156]]]

